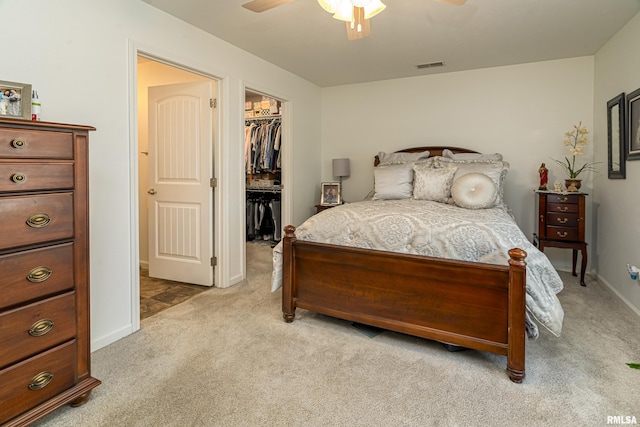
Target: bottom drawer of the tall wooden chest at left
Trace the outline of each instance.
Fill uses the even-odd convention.
[[[71,388],[75,364],[73,340],[0,370],[0,423]]]

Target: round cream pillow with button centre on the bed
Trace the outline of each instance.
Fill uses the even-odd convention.
[[[461,208],[486,209],[495,205],[498,188],[483,173],[468,173],[453,182],[451,197]]]

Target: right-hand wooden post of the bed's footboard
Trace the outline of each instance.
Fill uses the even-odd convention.
[[[525,293],[527,253],[519,248],[509,251],[509,319],[507,350],[507,374],[514,383],[521,383],[525,376]]]

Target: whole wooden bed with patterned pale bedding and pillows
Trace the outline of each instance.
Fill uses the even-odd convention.
[[[421,153],[427,155],[420,157]],[[560,334],[563,312],[556,294],[562,282],[546,256],[524,237],[502,200],[501,180],[508,164],[501,158],[486,159],[486,163],[507,165],[499,176],[492,176],[495,204],[468,209],[458,206],[457,199],[452,202],[451,196],[438,200],[442,195],[427,194],[428,200],[414,199],[424,192],[419,177],[435,182],[433,179],[446,175],[445,181],[449,179],[457,192],[449,188],[449,193],[462,194],[457,189],[461,176],[453,178],[455,170],[460,173],[469,164],[484,168],[484,157],[462,160],[483,155],[454,147],[418,147],[394,155],[399,163],[378,165],[376,156],[376,189],[371,200],[326,210],[298,230],[285,227],[283,240],[274,248],[272,281],[272,290],[282,286],[284,320],[292,322],[296,308],[302,308],[503,355],[508,377],[521,383],[525,341],[527,336],[537,337],[536,322]],[[414,173],[412,197],[383,197],[388,189],[379,177],[396,164],[405,165],[396,169]],[[428,175],[421,172],[426,169]],[[435,171],[436,176],[431,169],[442,170]],[[480,184],[474,186],[480,188]],[[471,194],[469,191],[467,188],[464,194]],[[364,226],[377,223],[378,229]],[[407,224],[416,230],[405,230]],[[382,236],[385,234],[388,236]],[[496,242],[485,243],[485,236]],[[384,240],[387,246],[380,247],[374,240]]]

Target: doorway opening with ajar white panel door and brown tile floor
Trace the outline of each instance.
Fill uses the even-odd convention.
[[[216,82],[144,56],[137,62],[139,283],[145,318],[214,284],[210,100]]]

